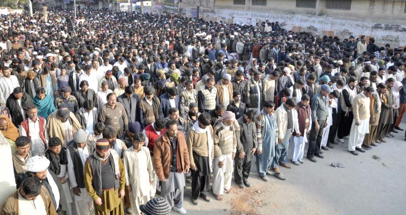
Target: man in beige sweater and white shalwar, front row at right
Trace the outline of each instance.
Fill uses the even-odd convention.
[[[365,134],[369,133],[370,96],[373,92],[374,89],[366,87],[353,100],[352,113],[354,120],[352,121],[351,132],[348,138],[348,150],[354,155],[358,155],[358,152],[355,150],[365,152],[361,146]]]

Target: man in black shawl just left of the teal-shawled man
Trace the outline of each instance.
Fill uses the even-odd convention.
[[[34,105],[32,99],[21,87],[13,90],[13,93],[7,98],[7,108],[12,113],[11,119],[15,126],[19,126],[27,118],[28,106]]]

